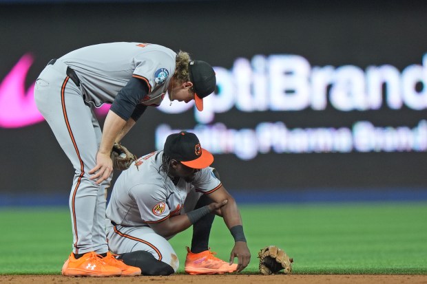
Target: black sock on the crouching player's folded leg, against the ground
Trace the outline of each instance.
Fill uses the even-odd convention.
[[[123,259],[123,262],[127,265],[139,267],[143,275],[165,276],[175,272],[171,265],[164,263],[163,261],[158,261],[152,254],[145,252],[144,250],[121,254],[119,259]]]

